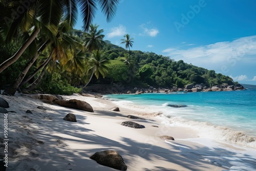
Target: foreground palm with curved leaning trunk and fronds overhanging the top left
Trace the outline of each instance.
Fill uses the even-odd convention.
[[[106,20],[110,22],[115,14],[119,0],[53,0],[53,1],[29,1],[29,7],[24,7],[23,1],[6,0],[0,2],[0,40],[10,42],[13,38],[18,38],[18,32],[28,32],[34,29],[33,34],[24,42],[23,46],[13,55],[0,65],[0,73],[7,67],[12,65],[28,48],[31,42],[36,38],[42,28],[46,28],[47,33],[57,35],[58,24],[61,17],[69,20],[69,24],[73,27],[76,23],[78,14],[78,5],[80,6],[83,28],[88,30],[89,25],[96,12],[96,2],[102,8],[102,12],[106,15]],[[22,14],[18,11],[20,8],[25,9]],[[12,11],[16,9],[16,16]],[[8,20],[7,20],[8,19]]]

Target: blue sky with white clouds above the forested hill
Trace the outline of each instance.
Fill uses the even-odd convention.
[[[105,39],[131,50],[154,52],[256,85],[255,0],[120,0],[110,23],[100,10],[93,23]],[[81,29],[82,20],[76,29]]]

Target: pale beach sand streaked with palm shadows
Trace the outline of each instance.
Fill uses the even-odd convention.
[[[94,113],[47,104],[19,93],[0,97],[8,101],[8,111],[16,112],[8,113],[7,170],[116,170],[89,158],[104,150],[117,151],[127,170],[133,171],[224,170],[230,167],[203,156],[207,146],[190,141],[198,138],[197,132],[183,127],[167,127],[155,117],[157,113],[154,111],[142,114],[127,107],[114,112],[110,110],[115,106],[111,100],[79,94],[62,97],[86,101],[92,105]],[[37,106],[46,110],[37,109]],[[26,113],[27,110],[33,114]],[[63,120],[68,113],[75,114],[77,122]],[[145,120],[129,119],[127,115]],[[3,159],[4,114],[0,113],[0,121],[0,157]],[[126,127],[121,125],[123,121],[135,121],[145,128]],[[161,135],[172,136],[175,141],[162,140]],[[193,155],[191,149],[202,151],[202,155]]]

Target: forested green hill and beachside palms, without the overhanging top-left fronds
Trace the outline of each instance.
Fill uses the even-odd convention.
[[[88,84],[121,83],[124,87],[183,88],[190,83],[205,83],[208,87],[237,83],[214,70],[196,67],[183,60],[175,61],[171,56],[130,50],[134,41],[127,36],[130,35],[124,35],[124,39],[120,40],[120,45],[121,41],[126,43],[124,49],[108,40],[103,41],[103,30],[98,30],[97,25],[90,25],[88,32],[76,29],[63,32],[58,37],[59,42],[51,42],[39,53],[19,88],[72,94],[80,92]],[[97,41],[89,45],[95,37]],[[38,37],[38,41],[45,42],[43,40],[44,37]],[[19,41],[11,41],[8,46],[1,43],[0,63],[12,56],[20,44]],[[33,56],[33,49],[32,45],[0,74],[2,89],[15,83]]]

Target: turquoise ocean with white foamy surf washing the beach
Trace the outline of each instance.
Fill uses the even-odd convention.
[[[160,112],[157,118],[163,124],[198,132],[199,138],[189,141],[211,146],[212,149],[219,146],[216,141],[235,145],[243,150],[235,153],[232,149],[231,156],[225,153],[227,156],[220,157],[222,152],[214,154],[211,151],[208,156],[206,152],[201,153],[209,161],[225,165],[227,170],[256,170],[256,89],[253,87],[229,92],[113,94],[103,97],[114,100],[119,107]],[[196,153],[198,151],[190,154]]]

